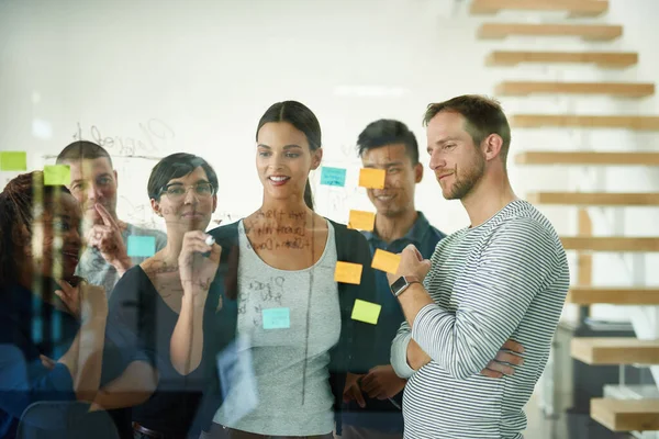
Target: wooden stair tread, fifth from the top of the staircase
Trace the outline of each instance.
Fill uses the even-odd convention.
[[[626,128],[636,131],[658,131],[659,116],[623,115],[563,115],[563,114],[514,114],[511,126],[522,128],[582,127],[582,128]]]

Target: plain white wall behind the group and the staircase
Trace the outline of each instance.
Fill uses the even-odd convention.
[[[562,16],[504,13],[491,20]],[[501,79],[654,81],[659,69],[656,16],[655,0],[611,0],[607,15],[581,21],[623,24],[624,36],[613,43],[479,42],[476,30],[485,19],[469,16],[465,1],[5,0],[0,3],[0,148],[27,150],[30,166],[40,167],[76,133],[90,139],[100,133],[113,139],[113,155],[152,157],[115,159],[120,214],[134,222],[153,219],[146,207],[146,179],[155,159],[179,150],[199,154],[220,176],[217,218],[227,219],[231,213],[235,219],[259,205],[254,134],[259,116],[276,101],[300,100],[316,113],[325,134],[325,165],[348,167],[354,182],[359,166],[355,139],[372,120],[407,123],[425,160],[421,116],[431,101],[492,93]],[[640,61],[607,71],[588,66],[485,68],[488,50],[504,47],[638,50]],[[583,114],[659,114],[658,102],[654,97],[503,100],[509,113]],[[515,130],[513,138],[513,154],[540,148],[659,149],[655,134],[608,130]],[[136,147],[122,150],[122,142]],[[13,175],[0,177],[7,181]],[[537,189],[659,190],[659,170],[638,168],[594,172],[512,165],[511,178],[521,195]],[[370,207],[364,191],[353,188],[316,184],[316,201],[321,213],[339,221],[347,219],[350,207]],[[417,206],[445,232],[467,225],[460,204],[442,198],[431,172],[418,187]],[[543,210],[560,233],[576,233],[572,210]],[[612,212],[592,212],[595,233],[659,236],[656,210],[627,209],[617,216]],[[597,255],[595,282],[659,284],[659,270],[654,269],[658,262],[656,255],[634,262],[629,256]],[[597,313],[612,315],[605,306]],[[617,309],[613,314],[623,315]],[[656,313],[654,322],[640,324],[654,328],[655,335],[657,325]]]

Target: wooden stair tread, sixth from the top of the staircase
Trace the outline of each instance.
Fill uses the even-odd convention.
[[[638,165],[659,166],[658,153],[524,151],[515,156],[517,165]]]

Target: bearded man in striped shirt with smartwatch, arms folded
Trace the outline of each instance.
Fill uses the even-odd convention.
[[[409,245],[388,274],[406,320],[391,347],[395,372],[409,379],[405,438],[521,438],[568,290],[566,254],[547,218],[511,188],[511,133],[498,102],[434,103],[424,124],[442,193],[460,200],[471,224],[431,260]],[[523,362],[499,356],[514,373],[480,374],[507,339],[524,346]]]

